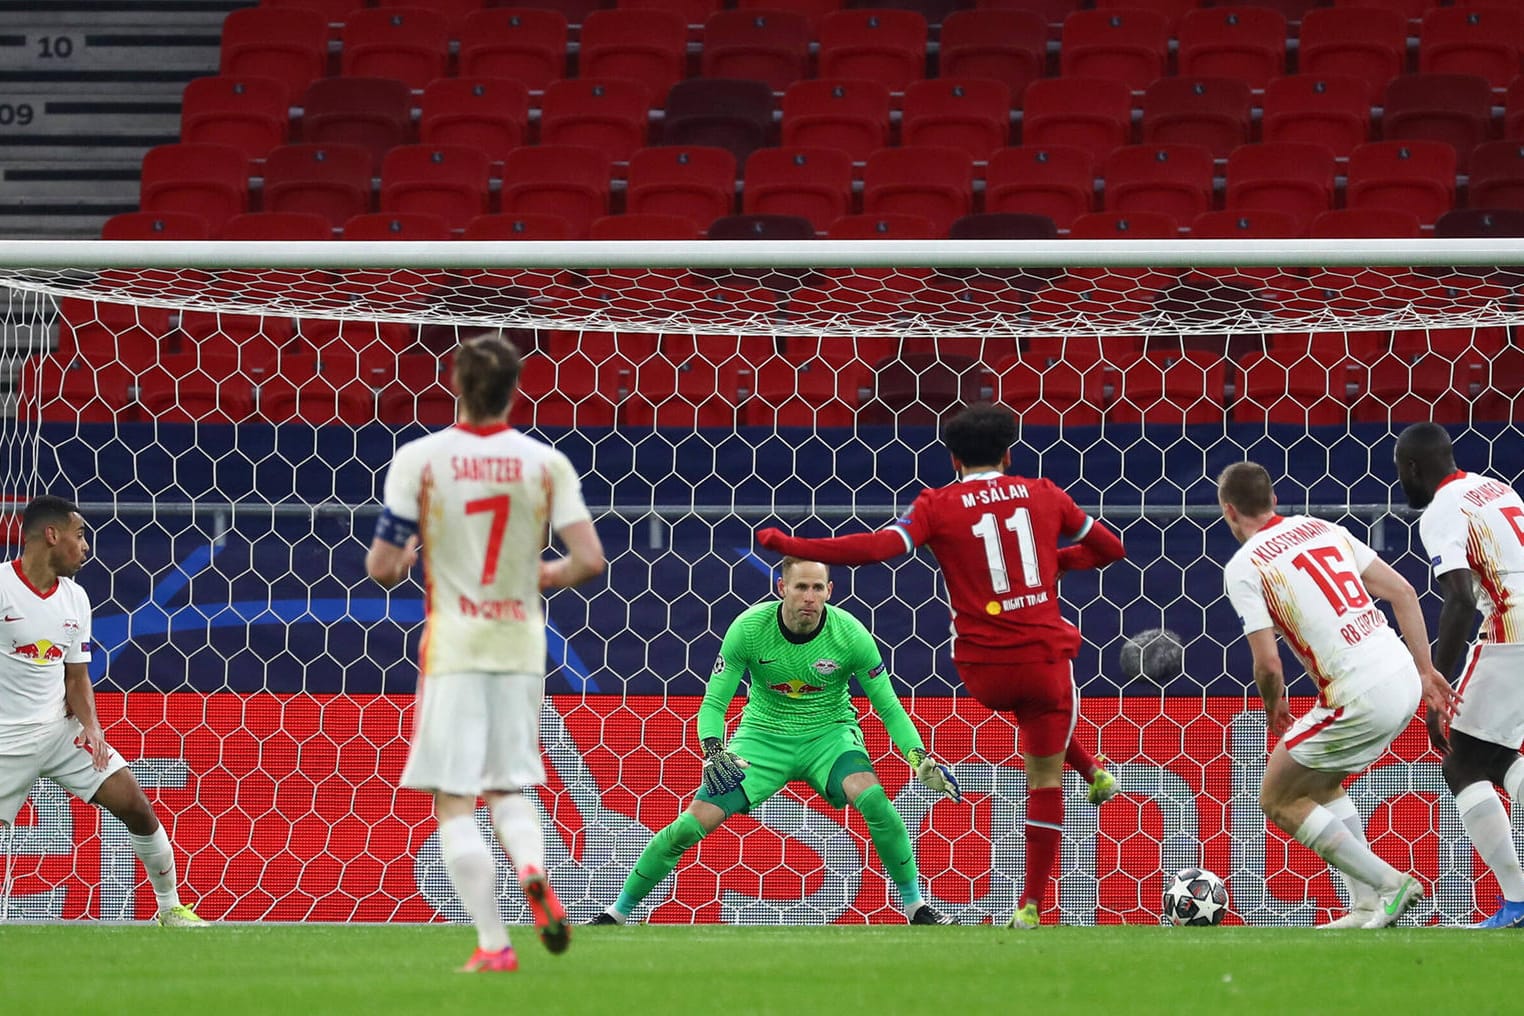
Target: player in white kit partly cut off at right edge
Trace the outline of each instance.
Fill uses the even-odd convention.
[[[1437,423],[1402,431],[1396,465],[1408,504],[1423,509],[1419,538],[1445,591],[1434,644],[1442,675],[1455,672],[1481,608],[1457,689],[1466,704],[1448,736],[1439,717],[1428,717],[1460,821],[1503,890],[1498,911],[1474,928],[1524,928],[1524,870],[1495,789],[1506,788],[1515,803],[1524,794],[1524,500],[1501,480],[1457,469]]]

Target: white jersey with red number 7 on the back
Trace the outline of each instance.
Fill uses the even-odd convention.
[[[570,460],[506,425],[456,425],[398,448],[384,501],[422,544],[419,673],[544,673],[539,558],[591,518]]]

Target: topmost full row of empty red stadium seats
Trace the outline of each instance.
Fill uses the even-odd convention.
[[[690,70],[687,17],[646,6],[594,11],[576,46],[579,76],[632,78],[664,93]],[[707,15],[693,69],[706,78],[767,81],[777,90],[818,73],[878,81],[898,91],[927,76],[934,62],[942,76],[992,76],[1020,94],[1049,69],[1047,37],[1036,12],[959,11],[942,23],[934,61],[928,61],[928,24],[916,11],[834,11],[817,18],[762,5]],[[456,53],[453,38],[459,40]],[[553,11],[483,9],[454,27],[447,15],[427,9],[357,11],[343,26],[338,70],[396,78],[413,88],[450,73],[507,76],[541,88],[565,76],[568,38],[565,18]],[[294,97],[328,73],[328,21],[315,12],[235,11],[223,30],[223,73],[274,78]],[[1501,88],[1524,69],[1524,12],[1498,3],[1436,8],[1419,30],[1416,65],[1410,67],[1407,47],[1407,23],[1394,11],[1311,11],[1291,50],[1295,59],[1288,62],[1286,18],[1271,8],[1196,9],[1180,18],[1178,29],[1160,11],[1105,8],[1064,20],[1058,70],[1134,90],[1177,69],[1263,88],[1297,67],[1352,75],[1372,102],[1387,81],[1410,69],[1478,75]]]

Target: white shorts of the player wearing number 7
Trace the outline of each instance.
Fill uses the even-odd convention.
[[[480,797],[546,781],[538,673],[431,673],[418,687],[402,786]]]

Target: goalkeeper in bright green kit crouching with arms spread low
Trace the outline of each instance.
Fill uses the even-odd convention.
[[[693,803],[651,839],[625,879],[619,900],[591,923],[623,925],[684,851],[732,815],[762,804],[789,780],[803,780],[832,807],[850,804],[861,812],[911,925],[952,923],[920,899],[910,833],[863,748],[847,679],[856,676],[917,780],[954,801],[962,800],[957,780],[927,754],[895,695],[873,637],[841,608],[826,608],[831,599],[826,565],[785,558],[777,591],[780,603],[757,603],[725,631],[698,710],[704,772]],[[751,687],[727,745],[725,710],[742,673],[750,675]]]

